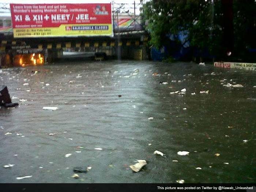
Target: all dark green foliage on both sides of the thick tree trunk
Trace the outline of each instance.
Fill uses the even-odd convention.
[[[160,48],[166,35],[187,33],[191,46],[211,54],[223,54],[225,0],[151,0],[143,4],[142,16],[150,33],[150,44]],[[255,47],[255,2],[233,0],[234,47]],[[241,29],[242,28],[242,29]],[[251,34],[250,37],[246,37]],[[254,33],[254,35],[253,35]],[[246,39],[246,40],[245,40]]]

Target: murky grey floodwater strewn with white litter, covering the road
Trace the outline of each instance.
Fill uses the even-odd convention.
[[[2,70],[0,82],[20,106],[0,109],[0,182],[256,182],[255,72],[151,61],[63,61]],[[32,70],[39,72],[31,76]],[[183,96],[170,94],[183,88]],[[133,173],[129,165],[137,159],[148,164]],[[3,167],[8,164],[15,165]],[[75,179],[76,166],[91,170]],[[32,177],[16,179],[23,176]]]

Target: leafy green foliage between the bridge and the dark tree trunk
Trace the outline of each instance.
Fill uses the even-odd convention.
[[[217,54],[222,27],[220,0],[151,0],[142,7],[142,15],[150,33],[150,44],[159,48],[166,34],[187,33],[191,46]]]

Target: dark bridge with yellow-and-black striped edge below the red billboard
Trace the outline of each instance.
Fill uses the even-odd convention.
[[[148,59],[148,36],[143,30],[140,16],[135,13],[136,10],[138,11],[138,5],[135,3],[112,4],[114,37],[14,38],[12,30],[8,33],[1,33],[0,31],[2,66],[3,64],[6,66],[25,64],[20,60],[20,57],[25,54],[29,54],[27,60],[30,63],[37,63],[38,54],[44,57],[44,62],[48,63],[61,58],[90,57],[95,59],[95,55],[97,56],[95,53],[105,53],[108,58],[116,59]],[[127,8],[133,7],[133,13],[126,11]],[[33,53],[37,59],[34,59]]]

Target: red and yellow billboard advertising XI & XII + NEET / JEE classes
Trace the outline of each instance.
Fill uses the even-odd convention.
[[[110,3],[10,4],[15,38],[113,36]]]

